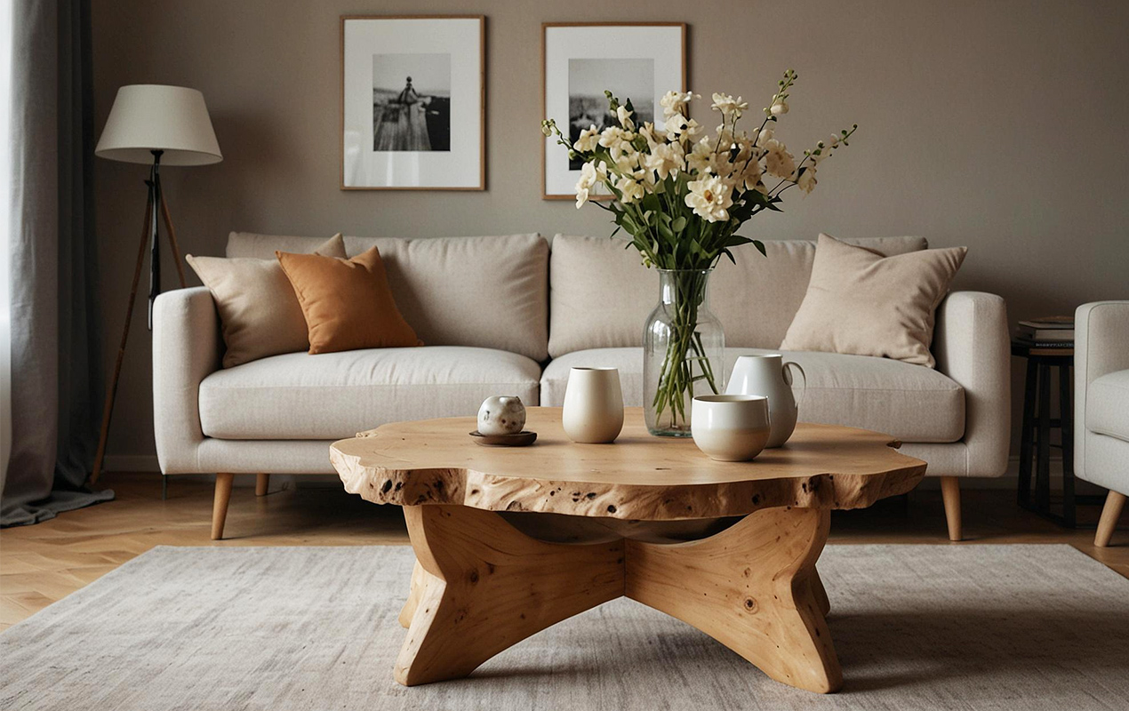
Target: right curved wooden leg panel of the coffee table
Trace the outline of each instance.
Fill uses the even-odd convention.
[[[706,632],[778,682],[842,686],[816,589],[825,510],[774,508],[680,544],[625,542],[624,595]]]

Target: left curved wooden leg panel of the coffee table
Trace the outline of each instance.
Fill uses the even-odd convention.
[[[419,574],[395,678],[466,676],[498,652],[623,595],[623,541],[544,543],[491,511],[404,507]]]

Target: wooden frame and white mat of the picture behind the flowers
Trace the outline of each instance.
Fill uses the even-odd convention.
[[[662,63],[663,67],[655,70],[651,94],[654,97],[654,105],[650,107],[653,116],[660,116],[660,108],[658,106],[658,98],[665,94],[667,90],[675,88],[675,86],[681,91],[686,90],[686,24],[685,23],[542,23],[541,25],[541,115],[544,118],[557,120],[557,125],[561,131],[571,137],[570,133],[570,116],[567,114],[570,112],[571,107],[571,90],[569,90],[569,81],[564,84],[564,89],[567,89],[563,104],[564,111],[561,111],[562,98],[559,95],[561,88],[561,77],[559,72],[561,67],[559,67],[560,56],[557,56],[559,47],[555,46],[555,41],[553,41],[550,35],[555,30],[578,30],[578,37],[571,38],[561,37],[560,42],[562,44],[569,44],[571,47],[576,47],[577,56],[568,55],[568,60],[589,60],[596,61],[622,61],[622,60],[654,60],[656,63]],[[629,33],[628,30],[638,29],[640,33]],[[602,34],[604,36],[604,42],[596,36],[596,33],[592,33],[592,37],[587,42],[577,42],[576,40],[583,40],[584,30],[604,30]],[[648,32],[655,30],[655,32]],[[669,30],[669,32],[664,32]],[[572,33],[566,33],[572,34]],[[624,35],[640,35],[633,38],[633,42],[621,42]],[[610,42],[611,35],[615,35],[618,40],[615,46],[612,46]],[[656,47],[653,52],[646,53],[636,47],[641,47],[653,42],[648,41],[647,35],[658,36],[662,35],[663,40],[672,44],[676,43],[676,69],[668,67],[669,62],[666,53],[669,52],[672,47]],[[633,47],[631,46],[633,44]],[[593,56],[590,52],[585,52],[586,49],[601,45],[602,56]],[[570,70],[571,71],[571,70]],[[550,79],[550,72],[553,72],[552,80]],[[662,76],[660,76],[662,74]],[[673,79],[673,85],[672,80]],[[615,89],[613,87],[606,87]],[[550,93],[553,91],[553,96],[550,97]],[[601,95],[598,97],[603,99]],[[621,100],[629,98],[628,95],[621,94],[619,96]],[[642,108],[640,102],[631,96],[632,104],[637,109]],[[653,120],[653,118],[648,118]],[[567,153],[564,152],[564,147],[557,144],[555,137],[549,137],[544,139],[541,151],[541,196],[543,200],[575,200],[576,195],[571,191],[571,185],[568,190],[564,190],[567,183],[575,184],[576,177],[579,170],[576,168],[569,168],[569,176],[564,177],[562,172],[561,161],[567,161]],[[593,195],[590,200],[611,200],[611,195]]]

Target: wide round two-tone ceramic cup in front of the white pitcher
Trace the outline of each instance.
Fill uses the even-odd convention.
[[[690,409],[694,444],[718,462],[752,459],[764,449],[771,429],[763,395],[699,395]]]

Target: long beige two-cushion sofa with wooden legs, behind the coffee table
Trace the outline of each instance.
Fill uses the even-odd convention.
[[[318,238],[233,234],[228,256],[271,258]],[[489,395],[560,405],[576,365],[615,366],[624,402],[641,404],[642,324],[657,278],[621,242],[537,235],[392,239],[347,237],[350,255],[378,245],[396,301],[427,343],[308,356],[221,369],[222,339],[207,289],[157,299],[154,410],[164,474],[218,472],[213,537],[231,479],[332,474],[327,445],[385,422],[473,415]],[[856,244],[884,254],[921,238]],[[772,349],[803,300],[814,242],[770,242],[723,262],[711,286],[728,367]],[[949,536],[960,538],[957,477],[998,476],[1008,451],[1007,318],[999,297],[954,292],[940,305],[937,369],[834,353],[786,353],[807,374],[800,419],[889,433],[943,477]]]

